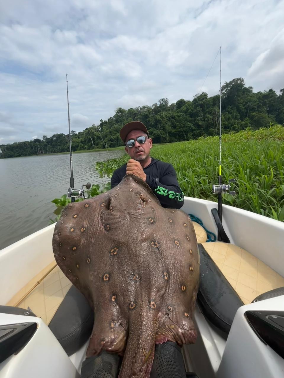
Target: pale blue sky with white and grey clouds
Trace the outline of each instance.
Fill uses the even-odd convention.
[[[218,94],[220,46],[222,84],[279,93],[283,15],[284,0],[1,1],[0,144],[68,133],[66,73],[76,132],[118,107]]]

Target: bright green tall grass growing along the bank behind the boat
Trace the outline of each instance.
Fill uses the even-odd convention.
[[[151,156],[171,163],[184,195],[217,201],[212,184],[217,184],[218,137],[153,146]],[[128,160],[97,163],[100,174],[110,177]],[[241,209],[284,221],[284,127],[275,125],[257,131],[245,130],[222,136],[223,183],[237,182],[231,189],[236,197],[223,195],[223,201]]]

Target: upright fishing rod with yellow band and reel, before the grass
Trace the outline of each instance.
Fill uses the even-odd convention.
[[[226,235],[226,232],[222,226],[222,204],[223,204],[223,198],[222,194],[228,193],[231,195],[236,195],[236,192],[230,191],[231,185],[230,183],[236,182],[234,178],[231,178],[229,180],[228,184],[222,184],[222,164],[221,164],[221,155],[222,155],[222,149],[221,149],[221,141],[222,141],[222,87],[221,87],[221,64],[222,64],[222,55],[221,55],[221,48],[220,46],[220,127],[219,127],[219,175],[218,175],[218,185],[213,184],[212,185],[212,192],[213,194],[218,194],[218,211],[216,209],[212,209],[212,215],[214,217],[215,223],[218,228],[218,235],[217,240],[223,241],[225,243],[230,243],[230,240],[228,236]]]

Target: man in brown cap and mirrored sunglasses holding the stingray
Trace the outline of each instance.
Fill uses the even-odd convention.
[[[120,183],[126,174],[134,174],[150,186],[164,208],[180,209],[184,203],[172,164],[150,157],[152,139],[146,126],[139,121],[129,122],[119,132],[130,160],[114,171],[111,188]]]

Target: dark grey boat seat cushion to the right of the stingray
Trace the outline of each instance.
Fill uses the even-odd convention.
[[[211,259],[204,246],[200,252],[200,284],[197,301],[204,316],[217,328],[229,333],[237,309],[243,302]]]

